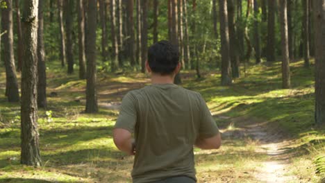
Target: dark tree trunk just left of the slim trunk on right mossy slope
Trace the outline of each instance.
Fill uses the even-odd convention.
[[[276,1],[268,0],[268,21],[267,21],[267,62],[275,61],[275,9]]]

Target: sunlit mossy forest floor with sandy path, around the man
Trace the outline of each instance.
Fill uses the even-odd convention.
[[[222,131],[219,150],[194,149],[199,182],[324,182],[325,129],[313,125],[313,67],[294,62],[292,89],[281,89],[281,64],[250,66],[231,87],[219,74],[182,86],[200,92]],[[113,144],[122,97],[149,85],[142,73],[98,74],[99,113],[84,114],[85,80],[49,63],[47,110],[39,111],[42,167],[19,165],[19,104],[4,98],[0,69],[0,182],[131,182],[133,157]]]

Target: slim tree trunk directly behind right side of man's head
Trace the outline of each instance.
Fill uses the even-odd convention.
[[[178,13],[177,13],[177,0],[172,0],[172,44],[178,46]],[[174,78],[176,85],[181,84],[181,76],[178,72]]]

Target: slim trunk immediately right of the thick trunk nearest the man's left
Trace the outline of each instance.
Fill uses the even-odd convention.
[[[106,8],[105,0],[99,0],[99,17],[101,19],[101,58],[103,59],[103,62],[107,61],[106,58],[107,33],[106,33],[105,8]]]

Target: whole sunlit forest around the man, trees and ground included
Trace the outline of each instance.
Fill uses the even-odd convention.
[[[131,182],[113,128],[178,46],[222,148],[198,182],[325,182],[325,0],[0,0],[0,182]]]

